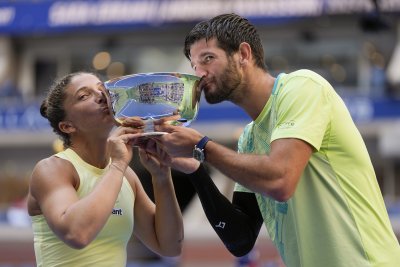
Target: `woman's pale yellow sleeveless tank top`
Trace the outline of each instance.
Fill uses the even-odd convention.
[[[109,166],[96,168],[83,161],[72,149],[56,154],[70,161],[78,172],[79,198],[88,195]],[[57,177],[54,177],[57,179]],[[126,247],[133,231],[135,196],[124,177],[121,191],[110,217],[97,237],[84,249],[74,249],[61,241],[48,226],[43,215],[32,216],[34,248],[38,267],[53,266],[126,266]],[[98,205],[101,205],[99,201]]]

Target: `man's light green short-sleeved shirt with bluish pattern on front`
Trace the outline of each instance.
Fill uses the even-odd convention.
[[[400,246],[366,146],[342,99],[318,74],[281,74],[238,150],[269,154],[270,143],[281,138],[301,139],[314,149],[290,200],[256,193],[286,266],[400,266]],[[235,190],[249,192],[239,184]]]

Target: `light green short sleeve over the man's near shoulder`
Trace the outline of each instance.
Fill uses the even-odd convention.
[[[276,124],[271,142],[297,138],[318,151],[329,131],[331,103],[325,85],[309,77],[295,76],[280,88],[277,96]]]

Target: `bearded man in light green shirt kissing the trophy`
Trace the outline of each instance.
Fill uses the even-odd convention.
[[[228,250],[249,252],[264,222],[287,267],[398,266],[399,243],[368,151],[331,85],[309,70],[272,77],[256,29],[235,14],[197,24],[184,51],[206,100],[231,101],[253,120],[239,153],[194,129],[158,126],[170,133],[159,141],[171,156],[193,153],[237,182],[230,203],[198,165],[175,166],[194,172]]]

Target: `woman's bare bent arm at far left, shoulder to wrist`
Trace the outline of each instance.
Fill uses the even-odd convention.
[[[95,189],[79,199],[75,168],[68,161],[53,156],[35,167],[30,194],[53,232],[67,245],[80,249],[105,225],[121,189],[122,176],[119,169],[110,167]]]

